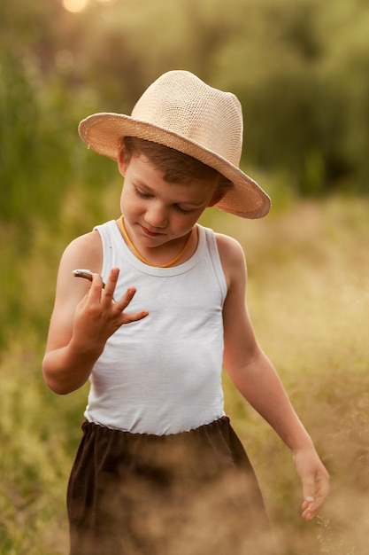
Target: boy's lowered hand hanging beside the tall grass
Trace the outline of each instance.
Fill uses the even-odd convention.
[[[295,452],[293,460],[296,472],[303,483],[302,516],[305,520],[312,520],[327,500],[329,474],[313,448]]]

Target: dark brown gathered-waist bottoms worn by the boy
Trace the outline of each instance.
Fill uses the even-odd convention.
[[[84,422],[67,492],[70,555],[266,555],[258,482],[227,417],[191,432]]]

